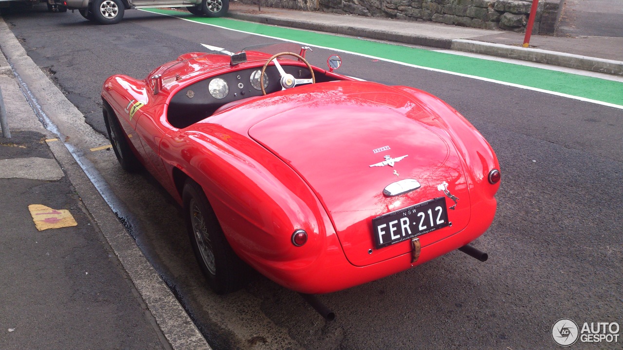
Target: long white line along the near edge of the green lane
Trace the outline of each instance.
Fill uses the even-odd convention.
[[[141,10],[141,11],[146,11],[146,10]],[[159,14],[158,12],[151,12],[151,11],[148,11],[148,12]],[[283,39],[282,37],[273,37],[271,35],[257,34],[257,33],[254,33],[254,32],[247,32],[247,31],[240,31],[239,29],[231,29],[231,28],[227,28],[227,27],[223,27],[223,26],[217,26],[216,24],[196,22],[196,21],[193,21],[191,19],[181,18],[181,17],[178,17],[178,16],[172,16],[170,14],[161,14],[161,15],[178,18],[178,19],[181,19],[183,21],[193,22],[193,23],[197,23],[197,24],[203,24],[205,26],[211,26],[211,27],[226,29],[227,31],[234,31],[234,32],[240,32],[240,33],[244,33],[244,34],[257,35],[257,36],[260,36],[260,37],[267,37],[267,38],[270,38],[270,39],[277,39],[277,40],[283,40],[283,41],[287,41],[287,42],[294,42],[296,44],[307,45],[307,46],[314,46],[314,47],[318,47],[320,49],[335,50],[337,52],[344,52],[345,54],[357,55],[357,56],[361,56],[361,57],[368,57],[370,59],[382,60],[382,61],[385,61],[385,62],[390,62],[390,63],[393,63],[393,64],[404,65],[404,66],[407,66],[407,67],[412,67],[412,68],[417,68],[417,69],[424,69],[424,70],[430,70],[432,72],[446,73],[446,74],[451,74],[451,75],[458,75],[459,77],[472,78],[472,79],[476,79],[476,80],[482,80],[483,82],[496,83],[496,84],[500,84],[500,85],[506,85],[506,86],[509,86],[509,87],[522,88],[524,90],[531,90],[531,91],[536,91],[536,92],[548,93],[549,95],[571,98],[572,100],[578,100],[578,101],[583,101],[583,102],[595,103],[596,105],[609,106],[609,107],[612,107],[612,108],[618,108],[620,110],[623,110],[623,105],[616,105],[615,103],[609,103],[609,102],[592,100],[591,98],[569,95],[567,93],[555,92],[555,91],[551,91],[551,90],[545,90],[545,89],[542,89],[542,88],[526,87],[525,85],[519,85],[519,84],[515,84],[515,83],[508,83],[508,82],[502,82],[500,80],[493,80],[493,79],[490,79],[490,78],[477,77],[476,75],[469,75],[469,74],[464,74],[464,73],[451,72],[449,70],[435,69],[435,68],[430,68],[430,67],[424,67],[424,66],[421,66],[421,65],[408,64],[408,63],[400,62],[400,61],[397,61],[397,60],[384,59],[383,57],[376,57],[376,56],[373,56],[373,55],[359,54],[358,52],[351,52],[351,51],[347,51],[347,50],[336,49],[335,47],[320,46],[320,45],[316,45],[316,44],[310,44],[308,42],[300,42],[300,41],[296,41],[296,40]],[[297,29],[297,30],[302,31],[302,29]]]

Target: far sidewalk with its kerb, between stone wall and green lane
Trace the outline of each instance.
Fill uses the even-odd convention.
[[[623,33],[621,37],[532,35],[531,47],[526,49],[521,47],[524,37],[521,33],[434,22],[401,21],[264,6],[258,11],[257,6],[240,2],[231,3],[228,16],[275,26],[389,40],[623,75]]]

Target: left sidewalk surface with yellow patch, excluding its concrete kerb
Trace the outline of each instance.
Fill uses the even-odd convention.
[[[0,348],[171,349],[50,151],[60,141],[4,55],[0,67],[12,136],[0,137]]]

